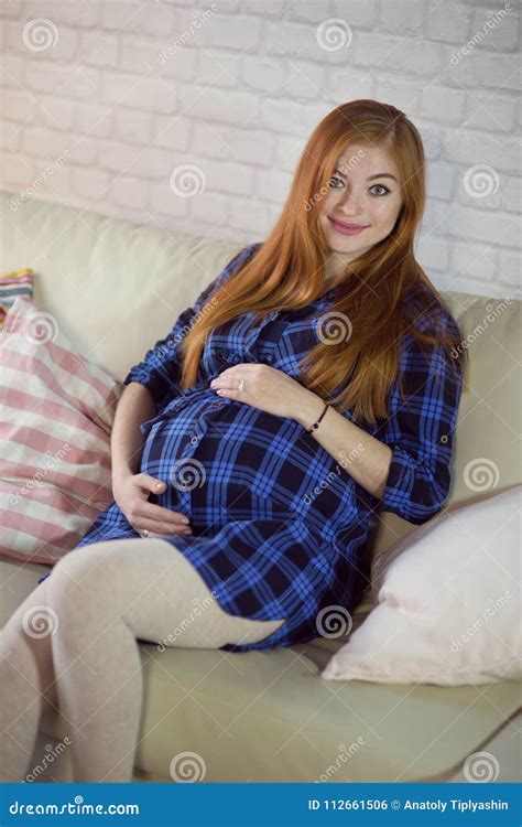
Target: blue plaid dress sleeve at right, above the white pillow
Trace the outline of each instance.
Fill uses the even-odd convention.
[[[374,433],[393,451],[376,512],[393,512],[421,525],[442,509],[449,493],[463,376],[443,345],[434,345],[423,355],[411,335],[403,348],[401,369],[405,402],[396,382],[392,386],[390,416]]]

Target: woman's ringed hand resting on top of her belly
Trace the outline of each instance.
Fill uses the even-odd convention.
[[[243,390],[238,390],[240,379],[244,379]],[[218,396],[228,396],[267,414],[291,419],[296,417],[304,399],[311,395],[283,370],[255,362],[227,367],[211,380],[210,387]]]

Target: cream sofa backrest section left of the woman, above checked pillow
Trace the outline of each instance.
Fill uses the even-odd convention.
[[[35,304],[120,380],[244,247],[35,198],[13,222],[13,197],[0,190],[0,267],[29,261],[37,272]]]

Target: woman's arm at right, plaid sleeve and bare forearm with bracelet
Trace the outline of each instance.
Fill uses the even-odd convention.
[[[453,441],[464,383],[461,370],[455,372],[442,345],[433,346],[426,362],[413,336],[403,351],[401,373],[405,401],[394,382],[390,415],[377,429],[376,437],[335,409],[326,412],[313,434],[339,463],[340,451],[350,459],[347,471],[378,498],[377,512],[393,512],[420,525],[441,511],[449,493]],[[320,402],[311,393],[307,390],[298,415],[294,415],[306,428],[320,414]],[[362,450],[358,451],[359,442]]]

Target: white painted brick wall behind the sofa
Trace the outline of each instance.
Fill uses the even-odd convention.
[[[340,103],[374,97],[403,109],[425,142],[417,256],[434,282],[514,296],[519,9],[515,0],[1,0],[1,184],[24,191],[64,154],[35,197],[261,240],[317,122]],[[40,36],[35,18],[47,21]],[[349,24],[348,46],[319,47],[317,28],[330,18]],[[171,187],[183,164],[205,181],[194,197]]]

